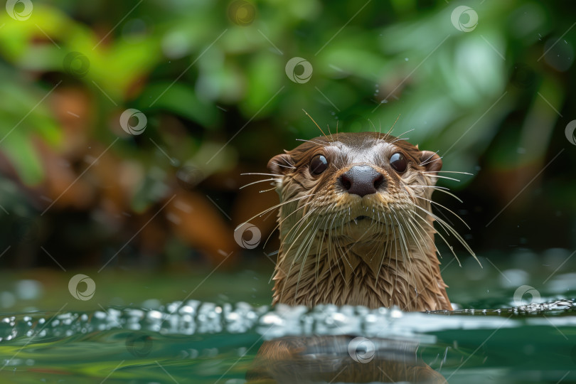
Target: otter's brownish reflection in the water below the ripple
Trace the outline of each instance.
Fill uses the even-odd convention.
[[[288,336],[265,342],[248,383],[446,383],[417,356],[418,343],[392,338]]]

